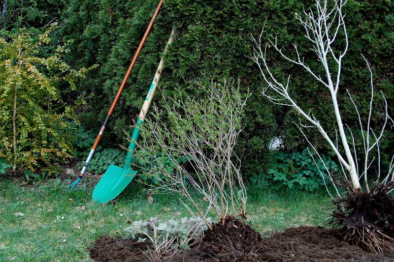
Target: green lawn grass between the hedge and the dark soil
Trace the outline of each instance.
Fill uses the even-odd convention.
[[[92,191],[70,192],[60,180],[35,187],[0,180],[0,262],[90,261],[87,247],[101,234],[125,235],[122,229],[128,219],[190,216],[173,195],[155,195],[149,204],[137,183],[122,193],[116,205],[94,203]],[[248,221],[263,235],[300,225],[324,225],[329,213],[325,209],[332,206],[325,191],[249,186],[248,196]],[[15,216],[18,212],[24,216]]]

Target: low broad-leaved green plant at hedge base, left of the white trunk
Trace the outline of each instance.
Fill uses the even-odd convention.
[[[313,191],[324,185],[324,179],[326,181],[329,179],[324,172],[322,172],[322,177],[308,152],[308,148],[302,152],[278,151],[274,153],[273,159],[274,163],[268,169],[267,175],[254,175],[250,178],[254,184],[265,187],[276,183],[289,189]],[[322,155],[322,159],[331,174],[338,172],[338,166],[330,156]],[[324,171],[323,162],[316,157],[315,160],[320,170]]]

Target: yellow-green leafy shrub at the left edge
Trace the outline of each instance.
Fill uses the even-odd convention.
[[[54,23],[39,35],[26,29],[1,31],[0,157],[12,170],[34,172],[73,154],[73,127],[67,120],[78,122],[75,109],[85,100],[73,92],[90,69],[66,64],[66,46],[45,53],[56,27]]]

